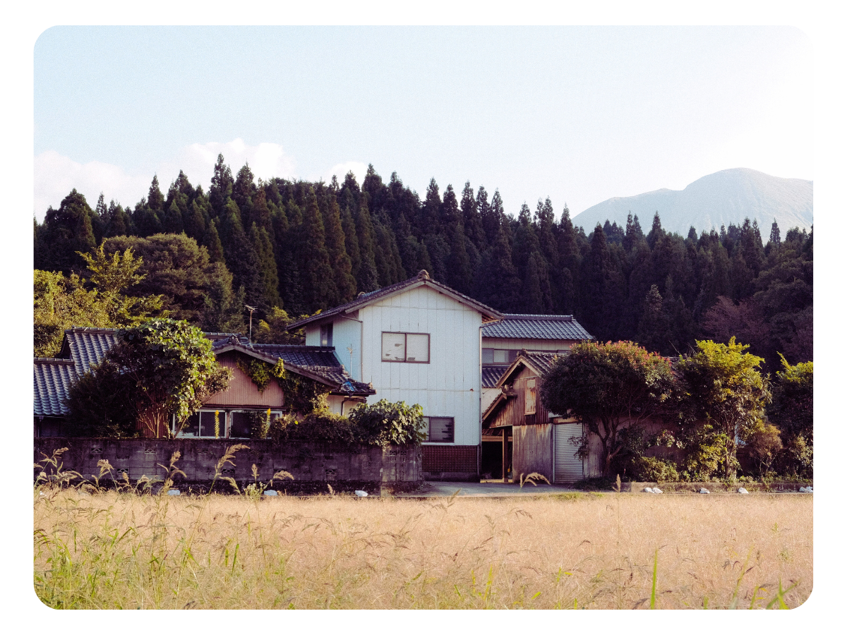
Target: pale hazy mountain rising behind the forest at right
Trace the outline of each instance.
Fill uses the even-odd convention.
[[[589,207],[573,217],[590,233],[597,223],[626,226],[627,214],[639,217],[641,229],[650,231],[653,214],[658,212],[662,228],[688,235],[730,223],[740,225],[745,218],[757,219],[761,238],[767,242],[776,218],[783,238],[793,227],[811,229],[815,213],[815,181],[782,179],[750,168],[721,170],[695,180],[684,190],[656,190],[637,196],[616,196]]]

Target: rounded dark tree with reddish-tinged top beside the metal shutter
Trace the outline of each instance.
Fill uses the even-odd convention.
[[[549,411],[573,414],[600,439],[603,473],[611,476],[612,460],[626,448],[623,429],[660,416],[672,386],[667,360],[639,345],[583,342],[556,359],[540,396]]]

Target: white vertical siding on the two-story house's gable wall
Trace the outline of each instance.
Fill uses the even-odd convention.
[[[436,290],[418,287],[364,306],[359,319],[363,321],[361,381],[373,383],[377,391],[368,402],[405,401],[420,404],[427,417],[454,417],[454,444],[478,445],[479,312]],[[382,362],[383,332],[429,334],[429,363]],[[338,346],[343,348],[342,344],[346,346],[339,340]]]

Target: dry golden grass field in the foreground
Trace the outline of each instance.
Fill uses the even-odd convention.
[[[813,494],[42,492],[33,585],[55,608],[775,609],[814,588]]]

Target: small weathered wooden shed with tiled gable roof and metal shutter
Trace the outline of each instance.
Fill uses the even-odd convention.
[[[496,465],[491,461],[484,471],[485,467],[489,473],[500,468],[504,482],[510,463],[515,480],[520,474],[538,472],[551,483],[573,483],[601,474],[597,439],[590,439],[589,456],[579,458],[579,444],[572,439],[584,435],[583,424],[573,417],[547,411],[540,402],[542,378],[559,355],[550,351],[518,351],[493,387],[495,395],[483,413],[482,432],[484,437],[501,442],[502,459]]]

